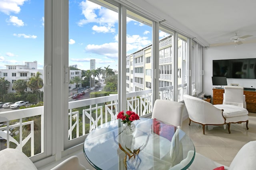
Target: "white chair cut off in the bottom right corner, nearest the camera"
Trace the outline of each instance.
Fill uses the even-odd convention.
[[[255,170],[256,167],[256,141],[246,143],[236,154],[230,166],[224,166],[206,156],[196,153],[194,161],[188,170],[212,170],[224,166],[225,170]]]

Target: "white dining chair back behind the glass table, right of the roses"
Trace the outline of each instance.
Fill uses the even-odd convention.
[[[170,100],[156,100],[152,111],[152,119],[164,121],[176,127],[182,126],[182,115],[185,105]]]

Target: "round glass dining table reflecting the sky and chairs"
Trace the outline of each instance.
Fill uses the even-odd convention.
[[[88,134],[84,155],[97,170],[185,170],[195,156],[194,144],[180,128],[156,119],[140,118],[132,135],[120,119]]]

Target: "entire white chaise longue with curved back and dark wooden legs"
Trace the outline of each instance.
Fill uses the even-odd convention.
[[[205,125],[228,125],[228,133],[230,132],[231,123],[246,122],[248,130],[248,111],[239,106],[228,104],[212,105],[202,99],[184,95],[184,102],[188,110],[189,125],[191,121]]]

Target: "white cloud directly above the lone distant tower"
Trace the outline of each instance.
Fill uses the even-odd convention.
[[[118,43],[105,43],[102,45],[87,45],[86,51],[98,55],[105,55],[108,58],[111,59],[117,59],[118,58]]]

